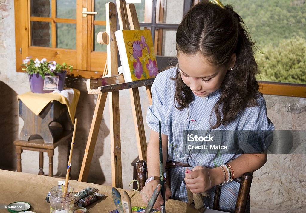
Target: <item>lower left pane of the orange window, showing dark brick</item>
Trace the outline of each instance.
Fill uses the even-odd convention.
[[[31,45],[51,46],[51,23],[31,21]]]

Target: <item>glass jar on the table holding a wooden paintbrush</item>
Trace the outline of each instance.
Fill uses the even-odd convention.
[[[68,186],[67,193],[63,193],[64,186],[57,185],[51,188],[50,213],[73,213],[74,189]]]

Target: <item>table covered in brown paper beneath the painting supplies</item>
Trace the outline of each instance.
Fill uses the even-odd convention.
[[[52,186],[57,185],[57,182],[62,181],[63,179],[38,174],[0,170],[0,180],[0,204],[7,205],[16,201],[25,201],[31,204],[31,211],[46,213],[50,212],[50,204],[45,201],[46,195]],[[106,194],[104,199],[86,207],[88,213],[107,213],[116,209],[111,196],[111,186],[97,185],[73,180],[69,180],[69,185],[74,188],[75,192],[79,192],[80,190],[90,186],[99,189],[100,193]],[[118,191],[122,194],[124,189],[118,189]],[[126,191],[130,196],[134,193],[131,190]],[[140,193],[136,193],[131,201],[132,206],[146,206],[140,197]],[[166,210],[168,213],[200,212],[197,211],[191,204],[171,199],[166,202]],[[8,211],[0,209],[0,212]],[[205,213],[218,212],[222,211],[210,209],[205,210]]]

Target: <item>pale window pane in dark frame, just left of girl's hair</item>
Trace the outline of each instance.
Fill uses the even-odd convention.
[[[183,18],[184,0],[163,0],[161,4],[163,4],[160,8],[162,11],[156,11],[159,13],[159,21],[156,20],[156,23],[180,24]]]

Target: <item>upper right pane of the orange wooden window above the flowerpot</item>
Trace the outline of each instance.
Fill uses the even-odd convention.
[[[56,17],[76,19],[76,0],[57,0]]]

